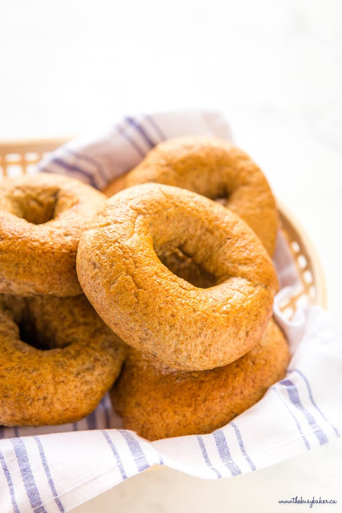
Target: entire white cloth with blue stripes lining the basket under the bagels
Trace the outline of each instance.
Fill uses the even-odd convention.
[[[38,168],[102,189],[136,165],[157,142],[186,134],[231,137],[218,112],[126,117],[102,134],[79,137],[57,149]],[[341,328],[316,306],[298,309],[293,321],[287,321],[278,304],[296,286],[297,275],[280,233],[274,262],[283,287],[274,313],[293,356],[286,378],[261,401],[210,435],[152,443],[120,429],[108,396],[91,415],[74,424],[0,428],[0,510],[68,511],[153,465],[206,479],[232,477],[338,437],[342,431]]]

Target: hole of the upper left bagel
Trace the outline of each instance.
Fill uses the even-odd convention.
[[[17,188],[11,198],[12,213],[35,225],[45,224],[55,217],[59,190],[35,191]]]

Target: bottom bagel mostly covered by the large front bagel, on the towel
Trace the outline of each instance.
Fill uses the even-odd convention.
[[[273,320],[244,357],[212,370],[177,371],[131,349],[111,400],[124,428],[149,440],[211,433],[263,398],[289,360]]]

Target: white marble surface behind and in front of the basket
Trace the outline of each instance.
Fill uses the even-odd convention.
[[[78,133],[139,110],[222,109],[309,233],[341,320],[340,0],[12,0],[2,11],[0,139]],[[338,441],[225,481],[148,472],[74,511],[273,513],[294,495],[342,511],[341,462]]]

